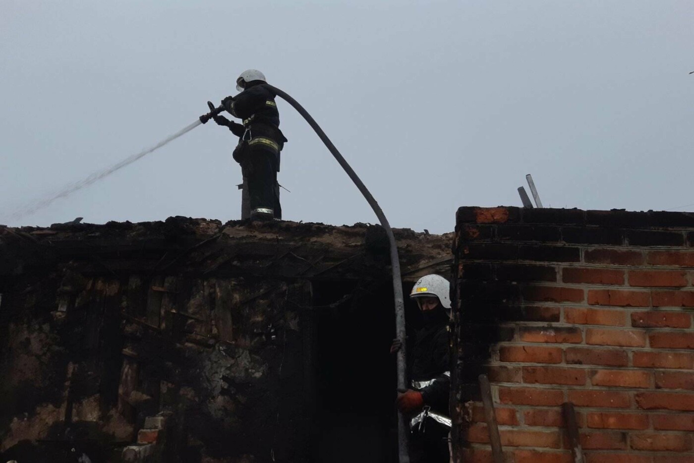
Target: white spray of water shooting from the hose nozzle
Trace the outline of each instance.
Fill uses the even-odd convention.
[[[53,201],[56,201],[56,199],[65,198],[66,196],[76,192],[77,190],[81,190],[82,188],[92,185],[92,183],[97,182],[102,178],[110,176],[110,174],[113,174],[117,170],[122,169],[127,165],[133,164],[133,162],[135,162],[136,160],[144,158],[144,156],[148,155],[149,153],[156,151],[157,149],[160,149],[162,146],[173,140],[176,140],[176,138],[180,137],[181,135],[184,135],[185,133],[192,131],[200,124],[202,124],[202,122],[198,119],[193,124],[190,124],[189,126],[182,128],[180,131],[174,133],[174,135],[169,135],[169,137],[164,138],[164,140],[162,140],[158,144],[155,144],[155,146],[152,146],[151,148],[147,148],[140,151],[137,154],[130,155],[121,162],[118,162],[117,164],[112,165],[111,167],[108,167],[106,169],[96,171],[90,176],[83,178],[83,180],[68,183],[67,185],[65,185],[65,187],[62,187],[56,193],[49,194],[47,196],[44,196],[43,198],[35,199],[34,201],[31,201],[30,203],[22,206],[21,208],[17,208],[15,212],[12,212],[7,218],[10,220],[17,220],[21,219],[22,217],[28,214],[33,214],[37,210],[43,209],[46,206],[50,205],[51,203],[53,203]]]

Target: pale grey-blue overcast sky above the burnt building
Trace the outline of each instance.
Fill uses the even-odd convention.
[[[392,226],[521,205],[528,173],[545,206],[694,210],[692,24],[691,0],[0,0],[0,224],[238,219],[236,139],[214,122],[8,217],[187,126],[248,68],[303,104]],[[285,219],[377,222],[278,107]]]

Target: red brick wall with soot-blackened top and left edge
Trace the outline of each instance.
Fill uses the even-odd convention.
[[[694,214],[460,208],[456,461],[491,462],[487,373],[507,462],[694,463]]]

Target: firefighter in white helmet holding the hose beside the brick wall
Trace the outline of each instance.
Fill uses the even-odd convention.
[[[450,319],[450,284],[446,278],[427,275],[420,278],[409,295],[417,302],[423,326],[416,332],[408,350],[411,389],[398,394],[396,406],[409,417],[412,430],[412,462],[448,462],[448,321]],[[393,339],[391,353],[402,343]],[[409,347],[409,344],[408,344]]]

